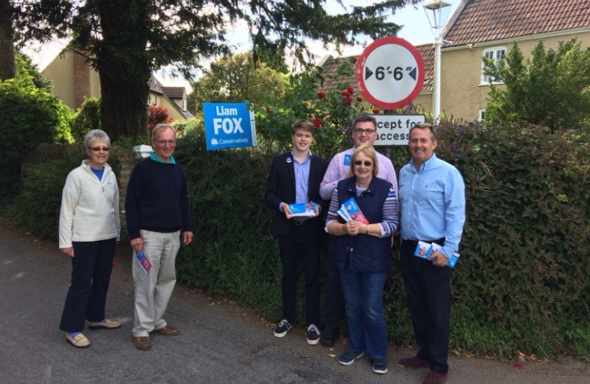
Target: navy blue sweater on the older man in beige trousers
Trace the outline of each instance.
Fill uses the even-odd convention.
[[[186,196],[186,176],[180,164],[140,161],[129,178],[125,198],[129,239],[139,230],[171,233],[193,231]]]

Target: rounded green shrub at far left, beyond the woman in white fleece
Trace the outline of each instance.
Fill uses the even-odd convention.
[[[42,142],[72,141],[68,125],[70,108],[38,89],[30,80],[0,81],[0,195],[12,195],[20,174],[21,161]]]

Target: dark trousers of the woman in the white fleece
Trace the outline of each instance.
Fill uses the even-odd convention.
[[[104,319],[116,239],[73,242],[72,281],[61,315],[60,329],[84,330],[85,320]]]

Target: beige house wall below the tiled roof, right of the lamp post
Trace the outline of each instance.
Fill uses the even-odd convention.
[[[581,48],[590,46],[590,32],[553,33],[543,36],[545,49],[557,48],[560,41],[569,41],[572,37],[581,41]],[[540,38],[524,36],[515,39],[525,58],[530,57],[531,51]],[[486,107],[490,87],[481,84],[481,63],[483,50],[505,46],[510,51],[514,40],[496,41],[476,44],[473,48],[449,48],[441,53],[441,112],[447,117],[475,120],[478,111]],[[501,87],[501,86],[500,86]]]

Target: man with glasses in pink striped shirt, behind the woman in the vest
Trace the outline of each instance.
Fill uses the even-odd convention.
[[[332,193],[338,181],[350,177],[350,159],[353,156],[353,151],[360,144],[371,145],[377,139],[377,121],[375,117],[368,114],[361,114],[355,119],[353,124],[352,137],[353,148],[336,154],[328,165],[328,170],[323,176],[320,184],[320,196],[325,200],[332,198]],[[390,159],[383,156],[379,152],[377,154],[377,161],[379,163],[379,173],[377,177],[389,181],[397,196],[397,178],[395,177],[395,169]],[[344,296],[342,292],[342,284],[340,283],[340,273],[338,267],[334,264],[331,257],[331,249],[328,250],[328,260],[326,262],[326,271],[328,275],[328,286],[326,287],[326,298],[324,299],[322,321],[324,330],[321,334],[321,345],[333,346],[338,334],[340,333],[340,321],[344,317]]]

